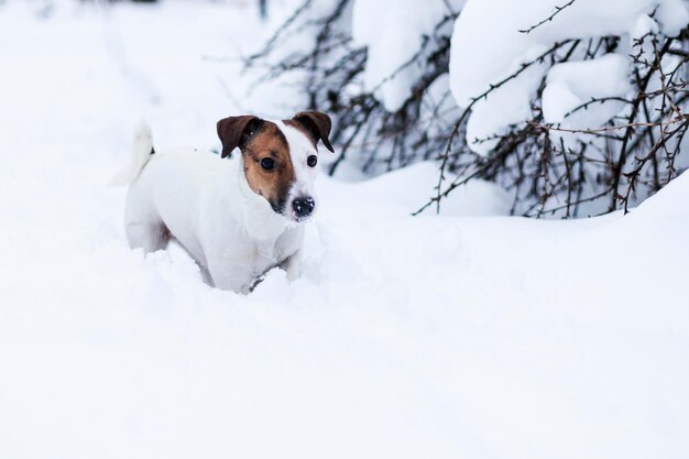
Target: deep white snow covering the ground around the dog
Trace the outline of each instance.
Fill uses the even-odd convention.
[[[412,218],[433,164],[321,177],[304,278],[220,292],[129,250],[105,184],[142,117],[289,114],[217,58],[253,11],[37,4],[0,4],[0,458],[689,456],[689,175],[566,222],[481,183]]]

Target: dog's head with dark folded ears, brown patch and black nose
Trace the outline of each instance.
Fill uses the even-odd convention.
[[[247,114],[218,121],[222,157],[241,150],[249,187],[288,220],[306,220],[316,208],[314,181],[318,141],[330,150],[330,117],[304,111],[291,120],[267,121]]]

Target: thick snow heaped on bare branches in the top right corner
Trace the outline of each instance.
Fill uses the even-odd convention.
[[[502,81],[564,40],[608,35],[636,37],[639,28],[649,26],[648,14],[654,11],[659,30],[669,36],[678,34],[689,23],[689,4],[681,0],[577,0],[553,21],[529,33],[520,32],[550,17],[556,7],[565,3],[561,0],[468,0],[455,23],[451,40],[450,89],[457,103],[469,107],[491,85]],[[626,51],[632,54],[631,48]],[[631,63],[628,56],[627,62]],[[586,65],[561,67],[556,79],[561,83],[562,73],[569,69],[578,75],[568,79],[576,80],[583,68]],[[620,63],[615,64],[614,75],[621,76],[621,69]],[[580,85],[595,86],[599,78],[608,78],[593,72],[592,67],[586,73],[589,81]],[[500,135],[510,125],[531,118],[531,101],[547,72],[545,64],[535,64],[474,105],[467,128],[467,140],[473,151],[488,153],[494,142],[478,143],[477,139]],[[553,95],[562,97],[561,102],[557,100],[559,97],[551,97],[548,101],[553,120],[559,120],[564,110],[570,108],[576,98],[581,98],[577,90],[558,83],[550,90]],[[593,116],[592,120],[597,118]]]

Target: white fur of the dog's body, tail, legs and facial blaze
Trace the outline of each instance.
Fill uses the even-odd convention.
[[[151,131],[140,128],[131,165],[116,177],[131,183],[124,216],[130,247],[164,249],[169,231],[197,261],[205,280],[222,289],[248,293],[277,265],[296,278],[304,227],[296,222],[292,200],[314,197],[317,167],[308,167],[306,159],[316,150],[298,130],[274,122],[287,139],[296,173],[284,215],[251,190],[241,154],[222,160],[182,147],[151,155]]]

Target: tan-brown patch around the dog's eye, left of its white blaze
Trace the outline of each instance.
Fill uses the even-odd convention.
[[[273,210],[282,214],[295,181],[285,135],[277,124],[264,121],[240,147],[249,187],[263,196]]]

